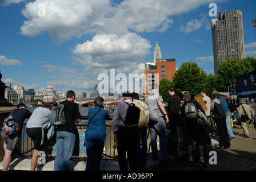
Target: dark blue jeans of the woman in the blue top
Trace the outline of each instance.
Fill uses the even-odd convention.
[[[85,147],[87,154],[86,171],[99,171],[104,141],[105,135],[102,134],[85,135]]]

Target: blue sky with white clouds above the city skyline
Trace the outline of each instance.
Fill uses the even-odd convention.
[[[256,57],[255,5],[255,0],[0,0],[2,82],[41,93],[51,82],[58,92],[89,94],[102,83],[101,74],[110,81],[111,71],[143,73],[157,42],[162,58],[175,59],[177,68],[195,61],[214,74],[213,13],[242,11],[246,57]]]

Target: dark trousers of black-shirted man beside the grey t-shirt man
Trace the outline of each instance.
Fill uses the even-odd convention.
[[[178,130],[172,131],[166,129],[166,137],[168,140],[169,155],[173,155],[175,158],[178,156]]]

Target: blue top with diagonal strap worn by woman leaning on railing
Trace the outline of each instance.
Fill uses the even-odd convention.
[[[100,110],[98,113],[97,111]],[[97,113],[95,116],[94,114]],[[94,116],[93,120],[91,118]],[[89,109],[88,112],[88,122],[87,129],[85,134],[100,134],[106,136],[106,118],[109,117],[108,110],[102,110],[101,107],[95,106],[94,108]]]

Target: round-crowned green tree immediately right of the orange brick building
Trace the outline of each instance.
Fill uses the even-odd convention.
[[[206,73],[195,62],[182,63],[173,76],[173,85],[176,93],[182,98],[182,91],[188,91],[194,97],[198,89],[205,84]]]

